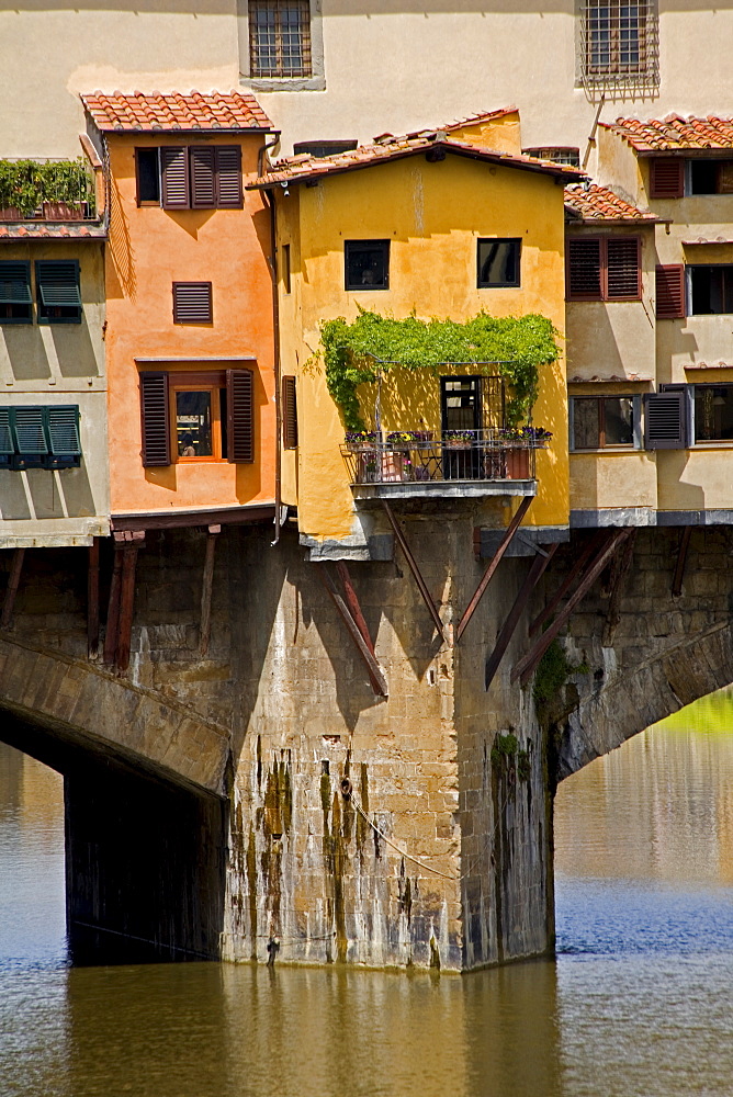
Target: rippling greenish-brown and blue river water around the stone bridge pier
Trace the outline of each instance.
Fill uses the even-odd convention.
[[[72,969],[60,780],[0,746],[0,1095],[730,1097],[733,701],[565,781],[555,838],[554,961]]]

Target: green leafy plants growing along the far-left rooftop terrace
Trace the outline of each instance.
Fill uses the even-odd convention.
[[[93,211],[94,184],[83,157],[76,160],[0,160],[0,210],[32,217],[44,202]]]

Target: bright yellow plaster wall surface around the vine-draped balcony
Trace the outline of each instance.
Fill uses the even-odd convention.
[[[304,362],[317,351],[325,319],[352,320],[359,307],[396,317],[494,316],[538,312],[564,327],[563,191],[550,177],[448,156],[413,157],[293,188],[300,202],[300,245],[291,242],[292,301],[281,293],[282,372],[298,374],[298,520],[317,538],[342,538],[354,508],[339,448],[343,425],[322,369]],[[278,195],[280,245],[289,242],[296,200]],[[522,238],[521,287],[476,289],[476,239]],[[343,241],[391,240],[390,290],[343,290]],[[286,331],[289,317],[302,337]],[[466,369],[466,373],[476,372]],[[553,431],[538,453],[539,496],[527,522],[567,523],[567,408],[564,363],[541,367],[534,422]],[[438,380],[435,380],[437,389]],[[419,427],[415,408],[410,423]]]

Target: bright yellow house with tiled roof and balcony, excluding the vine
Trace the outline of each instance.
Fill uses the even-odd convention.
[[[539,314],[562,348],[562,184],[578,174],[523,156],[511,109],[343,154],[294,157],[257,181],[277,204],[282,501],[297,508],[312,554],[329,546],[354,558],[379,554],[370,538],[386,529],[379,502],[390,500],[470,500],[474,524],[497,528],[512,497],[535,495],[525,524],[540,540],[565,536],[562,351],[540,364],[531,411],[552,434],[546,448],[508,429],[512,354],[489,359],[470,346],[464,360],[447,354],[441,363],[438,354],[432,369],[377,354],[373,382],[357,391],[368,436],[349,448],[345,428],[354,417],[327,391],[320,340],[325,321],[351,323],[363,312],[459,324],[482,313]]]

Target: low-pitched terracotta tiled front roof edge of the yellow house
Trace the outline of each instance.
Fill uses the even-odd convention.
[[[303,152],[301,156],[286,157],[278,160],[267,174],[250,183],[249,189],[272,186],[277,183],[306,182],[311,179],[322,179],[324,176],[337,176],[343,171],[371,168],[376,163],[401,160],[403,157],[430,150],[435,152],[437,159],[442,159],[441,152],[453,152],[456,156],[489,163],[503,163],[526,171],[538,171],[567,181],[584,178],[584,172],[577,168],[553,163],[551,160],[538,160],[529,156],[512,156],[509,152],[486,149],[470,142],[449,138],[446,133],[446,129],[424,129],[404,137],[385,134],[372,145],[360,145],[358,148],[347,152],[336,152],[334,156],[315,157]]]

